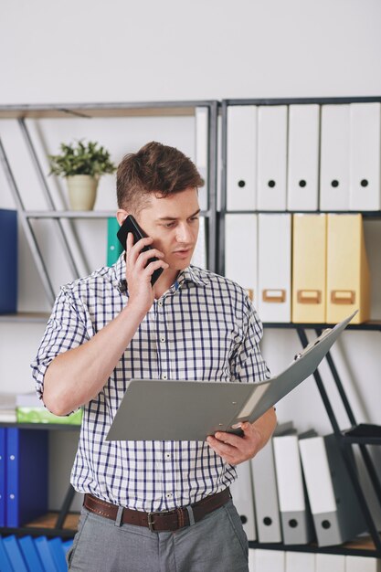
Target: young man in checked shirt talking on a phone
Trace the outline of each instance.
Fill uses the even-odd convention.
[[[269,376],[259,352],[262,327],[246,292],[190,265],[203,183],[184,154],[160,143],[124,157],[118,221],[132,214],[149,238],[133,244],[129,234],[125,257],[61,289],[32,365],[50,411],[84,408],[71,482],[85,501],[70,570],[248,569],[247,538],[228,486],[234,465],[269,440],[272,408],[244,424],[243,437],[105,441],[132,377],[255,382]],[[147,245],[153,249],[143,252]],[[153,256],[158,260],[147,264]]]

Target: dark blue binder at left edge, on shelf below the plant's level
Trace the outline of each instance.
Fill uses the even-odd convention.
[[[0,208],[0,313],[17,308],[17,212]]]

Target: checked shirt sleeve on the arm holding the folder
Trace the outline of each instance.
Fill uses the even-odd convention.
[[[245,294],[243,339],[230,364],[231,380],[258,383],[270,379],[270,369],[259,348],[263,325],[254,306]]]

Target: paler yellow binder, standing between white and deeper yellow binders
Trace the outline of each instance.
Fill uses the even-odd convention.
[[[324,323],[326,215],[293,215],[292,322]]]

